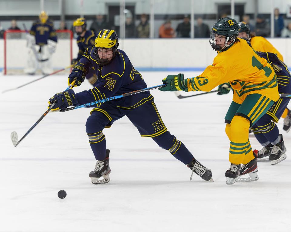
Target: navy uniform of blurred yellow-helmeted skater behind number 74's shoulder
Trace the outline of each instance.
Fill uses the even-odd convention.
[[[84,54],[84,52],[86,51],[88,47],[94,46],[95,37],[96,37],[96,34],[92,30],[86,31],[84,37],[81,37],[80,35],[77,37],[77,44],[79,47],[78,56],[76,59],[77,61],[81,59],[82,55]],[[86,75],[86,79],[88,79],[88,81],[93,86],[95,86],[97,77],[95,75],[94,68],[90,68],[89,73]]]

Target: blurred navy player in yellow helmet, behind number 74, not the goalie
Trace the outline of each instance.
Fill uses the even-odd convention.
[[[75,59],[72,59],[72,64],[76,64],[86,51],[88,47],[94,46],[95,41],[95,32],[93,30],[86,30],[87,22],[85,18],[77,18],[73,27],[75,32],[77,33],[77,44],[79,47],[78,56]],[[95,74],[94,68],[90,68],[89,73],[86,75],[86,79],[94,86],[97,81],[97,76]]]

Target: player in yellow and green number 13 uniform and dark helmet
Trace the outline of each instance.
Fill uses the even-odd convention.
[[[210,91],[229,82],[233,99],[225,116],[230,140],[226,183],[258,180],[257,150],[252,151],[249,127],[256,123],[279,99],[277,77],[271,65],[256,54],[243,39],[238,39],[239,25],[232,18],[221,18],[212,27],[209,42],[217,56],[213,64],[193,78],[183,74],[164,78],[161,91]],[[241,176],[249,174],[249,177]]]

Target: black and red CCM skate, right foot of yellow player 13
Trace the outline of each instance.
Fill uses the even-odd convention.
[[[247,164],[243,164],[240,168],[240,176],[236,179],[236,182],[250,182],[250,181],[257,181],[259,179],[258,176],[258,165],[257,165],[257,156],[258,156],[258,150],[254,150],[254,156],[250,162]],[[249,177],[241,178],[243,175],[249,174]]]

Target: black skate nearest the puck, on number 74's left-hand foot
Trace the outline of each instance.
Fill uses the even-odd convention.
[[[106,157],[103,160],[97,160],[95,165],[95,170],[90,172],[89,177],[91,177],[91,182],[94,185],[105,184],[110,181],[109,167],[109,150],[106,150]],[[99,178],[103,177],[103,179],[99,180]]]

